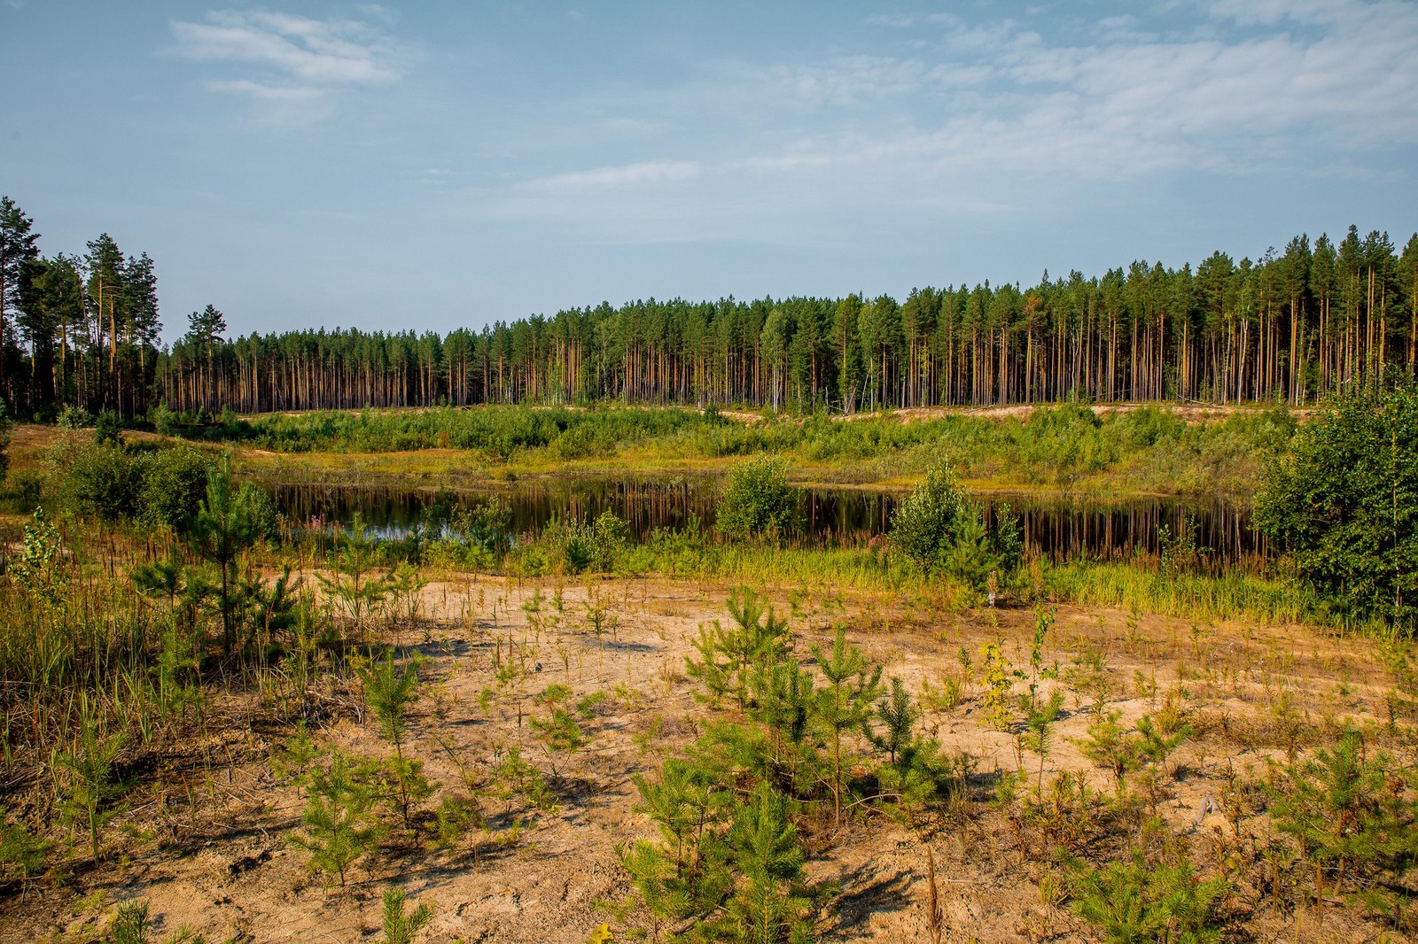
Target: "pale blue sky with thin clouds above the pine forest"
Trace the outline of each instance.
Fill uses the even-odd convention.
[[[903,296],[1418,225],[1418,3],[0,0],[0,193],[166,337]]]

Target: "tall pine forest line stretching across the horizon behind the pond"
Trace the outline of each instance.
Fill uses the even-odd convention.
[[[648,299],[482,329],[227,337],[208,305],[157,346],[146,254],[111,237],[41,257],[0,204],[0,391],[16,410],[244,412],[618,400],[844,412],[1056,401],[1302,405],[1418,363],[1418,234],[1290,240],[1193,268],[865,298]]]

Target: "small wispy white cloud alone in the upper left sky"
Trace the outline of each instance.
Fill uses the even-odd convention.
[[[370,20],[387,20],[380,7],[363,11]],[[173,21],[172,35],[183,58],[247,72],[208,79],[208,89],[302,106],[342,88],[389,85],[403,75],[407,47],[370,20],[216,10],[201,23]]]

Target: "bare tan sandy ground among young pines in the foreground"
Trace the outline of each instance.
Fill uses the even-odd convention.
[[[157,777],[163,790],[130,797],[111,829],[106,865],[91,867],[77,853],[65,887],[35,887],[23,901],[0,899],[0,941],[98,940],[115,903],[129,897],[147,899],[157,934],[187,926],[210,941],[376,940],[379,899],[390,884],[404,887],[410,901],[435,907],[420,940],[579,944],[601,921],[610,921],[615,940],[630,940],[634,928],[655,940],[652,923],[618,918],[601,903],[628,892],[615,845],[654,833],[635,809],[632,777],[682,748],[710,716],[683,666],[698,626],[727,619],[725,595],[723,587],[682,581],[438,580],[423,591],[421,618],[391,639],[427,659],[407,750],[441,782],[428,805],[458,790],[465,774],[475,782],[485,832],[438,849],[427,835],[393,829],[376,856],[354,866],[349,887],[326,887],[309,870],[309,855],[289,842],[303,807],[299,788],[268,761],[289,729],[258,713],[244,716],[240,706],[252,699],[233,696],[225,723],[167,746]],[[591,597],[614,618],[598,636],[586,618]],[[939,690],[946,678],[961,675],[961,648],[978,663],[980,646],[998,639],[1015,666],[1028,662],[1034,615],[1024,608],[950,612],[927,598],[889,594],[780,595],[777,605],[794,612],[801,658],[813,644],[828,644],[841,622],[888,678],[900,676],[917,693],[927,682]],[[1300,626],[1194,626],[1062,607],[1045,648],[1061,676],[1045,685],[1065,687],[1066,716],[1044,777],[1086,771],[1090,787],[1107,794],[1112,780],[1072,740],[1089,721],[1090,697],[1071,686],[1078,675],[1069,669],[1089,653],[1106,663],[1107,707],[1127,721],[1154,712],[1181,685],[1197,736],[1170,761],[1176,781],[1160,812],[1204,869],[1221,860],[1232,836],[1215,802],[1227,771],[1259,777],[1268,758],[1285,753],[1273,724],[1279,693],[1310,723],[1363,721],[1381,716],[1391,685],[1367,641]],[[498,668],[510,659],[525,661],[527,670],[499,686]],[[1022,764],[1032,778],[1038,758],[1014,734],[984,723],[978,665],[973,676],[960,704],[932,707],[922,724],[947,750],[976,758],[974,802],[916,829],[861,816],[841,829],[822,822],[807,831],[811,875],[841,883],[837,917],[824,924],[822,940],[926,940],[926,843],[940,875],[946,940],[1099,940],[1066,906],[1045,900],[1039,886],[1051,872],[1035,860],[1037,843],[1021,848],[1008,818],[988,804],[987,784],[997,771]],[[571,754],[549,753],[530,727],[532,717],[546,713],[533,696],[553,683],[570,687],[574,699],[604,693],[584,724],[588,743]],[[349,692],[328,695],[318,738],[386,757],[390,748],[359,700]],[[513,747],[553,788],[554,808],[537,811],[520,797],[498,795],[503,784],[492,768]],[[210,778],[206,770],[214,771]],[[1235,894],[1259,900],[1244,876]],[[1332,914],[1327,927],[1313,920],[1292,927],[1289,918],[1256,918],[1246,933],[1305,941],[1371,935],[1373,928],[1346,920]]]

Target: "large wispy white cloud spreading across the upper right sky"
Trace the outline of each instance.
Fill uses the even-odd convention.
[[[1418,4],[1181,3],[1185,17],[1089,30],[885,17],[925,45],[719,61],[621,102],[645,123],[695,115],[695,160],[635,160],[654,145],[627,137],[623,163],[472,200],[588,240],[737,238],[770,220],[817,240],[832,214],[1024,218],[1194,174],[1387,179],[1383,156],[1418,143]]]

